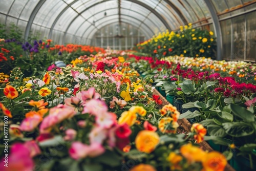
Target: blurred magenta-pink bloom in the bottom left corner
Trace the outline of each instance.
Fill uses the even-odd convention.
[[[22,143],[11,146],[8,159],[5,156],[0,161],[0,170],[5,171],[33,171],[34,162],[29,149]],[[5,166],[7,164],[8,167]]]

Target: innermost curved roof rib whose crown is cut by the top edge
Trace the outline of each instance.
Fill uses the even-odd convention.
[[[103,3],[103,2],[108,2],[108,1],[113,1],[113,0],[104,0],[104,1],[101,1],[101,2],[98,2],[98,3],[95,3],[95,4],[91,5],[90,7],[84,9],[83,11],[81,11],[80,14],[83,13],[84,11],[87,11],[88,9],[90,9],[90,8],[92,8],[92,7],[96,6],[96,5],[98,5],[98,4],[101,4],[101,3]],[[146,8],[146,9],[150,10],[152,13],[154,13],[154,14],[160,19],[160,21],[164,24],[164,26],[166,27],[166,29],[172,30],[172,29],[170,29],[170,27],[169,27],[169,25],[167,24],[166,20],[165,20],[158,12],[156,12],[153,8],[151,8],[150,6],[148,6],[148,5],[144,4],[144,3],[141,3],[140,1],[130,0],[130,2],[133,2],[133,3],[135,3],[135,4],[141,5],[142,7],[144,7],[144,8]],[[72,21],[70,22],[69,26],[67,27],[66,31],[64,32],[63,39],[65,39],[66,34],[67,34],[67,31],[69,30],[70,26],[72,25],[72,23],[75,21],[75,19],[76,19],[78,16],[79,16],[79,15],[77,15],[76,17],[74,17],[74,18],[72,19]]]

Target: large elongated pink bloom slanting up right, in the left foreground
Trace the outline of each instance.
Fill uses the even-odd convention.
[[[71,118],[76,114],[75,108],[68,105],[59,104],[49,110],[49,115],[42,120],[40,133],[47,133],[47,129],[60,123],[61,121]],[[46,132],[45,132],[46,131]]]

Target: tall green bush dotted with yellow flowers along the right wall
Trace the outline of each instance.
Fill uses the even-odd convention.
[[[179,31],[159,33],[136,46],[138,52],[157,56],[214,57],[216,42],[212,31],[193,29],[191,24],[180,26]]]

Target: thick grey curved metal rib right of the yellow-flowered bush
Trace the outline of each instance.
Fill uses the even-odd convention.
[[[219,22],[219,18],[217,16],[217,11],[214,8],[214,5],[211,3],[210,0],[204,0],[207,8],[209,9],[212,22],[214,25],[215,34],[217,37],[217,60],[222,60],[222,34],[221,34],[221,25]]]

